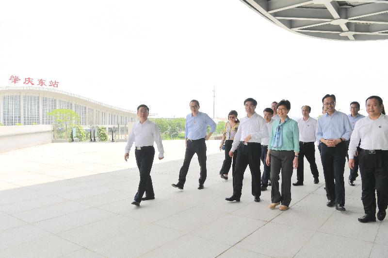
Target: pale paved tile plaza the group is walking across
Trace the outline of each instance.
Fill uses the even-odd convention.
[[[249,170],[241,202],[224,200],[232,180],[218,175],[218,141],[208,141],[205,189],[196,189],[195,156],[184,190],[172,188],[184,143],[163,144],[166,158],[151,173],[156,199],[140,207],[130,205],[139,175],[133,153],[124,161],[124,142],[0,154],[0,257],[388,257],[388,220],[357,221],[359,177],[355,187],[345,184],[347,210],[340,212],[325,206],[320,160],[317,185],[305,160],[305,185],[292,186],[291,208],[270,210],[271,187],[253,202]]]

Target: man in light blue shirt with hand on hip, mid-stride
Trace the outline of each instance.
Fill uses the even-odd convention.
[[[173,187],[183,189],[186,182],[186,175],[189,171],[189,166],[193,155],[196,153],[200,169],[198,189],[203,189],[203,184],[206,180],[206,143],[211,134],[215,131],[215,122],[205,113],[199,112],[199,102],[192,100],[190,102],[191,113],[186,116],[185,124],[185,145],[186,153],[183,165],[179,171],[179,180],[177,184],[172,184]],[[207,126],[210,126],[210,133],[207,133]]]

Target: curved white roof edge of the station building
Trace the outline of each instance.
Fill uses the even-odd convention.
[[[84,100],[84,101],[87,101],[87,102],[90,102],[90,103],[94,103],[94,104],[101,105],[101,106],[104,106],[104,107],[107,107],[107,108],[111,108],[111,109],[115,109],[115,110],[118,110],[118,111],[129,112],[129,113],[136,114],[135,111],[131,111],[131,110],[128,110],[128,109],[123,109],[123,108],[111,106],[111,105],[108,105],[108,104],[105,104],[105,103],[101,103],[101,102],[98,102],[98,101],[95,101],[95,100],[92,100],[92,99],[89,99],[89,98],[85,98],[85,97],[82,97],[82,96],[79,96],[79,95],[76,95],[76,94],[68,93],[68,92],[65,92],[65,91],[62,91],[62,90],[58,90],[58,89],[53,89],[53,88],[32,87],[32,86],[0,87],[0,92],[1,91],[15,91],[15,90],[18,90],[18,91],[30,91],[30,92],[35,91],[36,93],[39,93],[39,92],[52,92],[54,94],[65,95],[65,97],[78,98],[78,99],[81,99],[81,100]]]

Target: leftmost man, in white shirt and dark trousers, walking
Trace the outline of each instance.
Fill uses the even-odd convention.
[[[133,142],[135,142],[136,164],[140,171],[139,188],[132,202],[136,206],[139,206],[141,201],[155,199],[150,175],[155,156],[154,142],[156,142],[158,147],[159,159],[164,157],[161,132],[154,122],[147,119],[148,113],[149,108],[146,105],[141,104],[137,107],[139,121],[133,125],[132,131],[128,136],[127,146],[125,147],[124,159],[127,161],[130,148]],[[143,197],[144,192],[146,192],[146,197]]]

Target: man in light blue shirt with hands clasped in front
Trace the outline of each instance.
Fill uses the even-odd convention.
[[[352,134],[348,116],[335,109],[336,96],[325,95],[322,103],[326,114],[318,119],[315,136],[321,144],[321,159],[326,184],[327,206],[345,210],[345,185],[343,173],[346,162],[347,140]],[[334,183],[335,182],[335,183]]]

